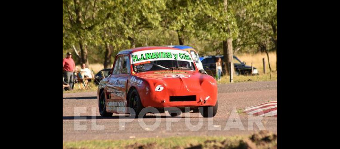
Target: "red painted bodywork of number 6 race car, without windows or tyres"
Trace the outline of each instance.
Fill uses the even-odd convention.
[[[131,89],[138,91],[143,107],[201,107],[215,106],[217,103],[216,80],[195,70],[161,70],[135,72],[130,63],[129,74],[114,74],[118,56],[125,56],[131,61],[131,54],[143,50],[180,50],[170,47],[140,47],[119,52],[115,58],[112,74],[104,78],[98,86],[98,105],[101,92],[105,94],[106,111],[129,113],[128,94]],[[180,50],[183,51],[183,50]],[[185,51],[183,51],[185,52]],[[127,57],[128,56],[128,57]],[[193,62],[194,64],[194,62]],[[157,91],[156,87],[162,88]],[[194,101],[170,101],[170,96],[195,96]]]

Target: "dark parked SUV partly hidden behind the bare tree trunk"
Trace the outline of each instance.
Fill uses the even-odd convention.
[[[200,60],[202,61],[204,70],[208,73],[208,75],[215,76],[216,75],[216,58],[220,57],[222,61],[224,60],[223,55],[217,55],[217,56],[203,56],[200,57]],[[233,63],[235,68],[235,74],[236,75],[251,75],[252,67],[246,66],[245,62],[241,62],[236,56],[233,56]],[[226,70],[224,67],[224,63],[222,62],[222,73],[221,76],[226,74]],[[258,75],[258,70],[253,67],[253,74]]]

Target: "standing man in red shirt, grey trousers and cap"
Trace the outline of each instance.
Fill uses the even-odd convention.
[[[75,72],[74,68],[75,68],[75,63],[72,59],[72,54],[70,52],[67,52],[67,57],[63,59],[63,74],[64,74],[64,81],[68,85],[70,85],[70,87],[68,87],[69,90],[73,89],[73,74]]]

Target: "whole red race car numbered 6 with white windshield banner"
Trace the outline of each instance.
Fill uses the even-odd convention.
[[[138,117],[144,107],[169,111],[171,116],[192,110],[214,117],[218,107],[216,80],[198,70],[188,52],[163,46],[119,52],[97,95],[103,117],[113,113]]]

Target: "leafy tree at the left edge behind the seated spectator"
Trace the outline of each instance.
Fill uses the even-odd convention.
[[[106,7],[109,2],[101,0],[63,0],[63,48],[78,44],[81,63],[88,66],[88,46],[92,41],[91,31],[109,18]]]

